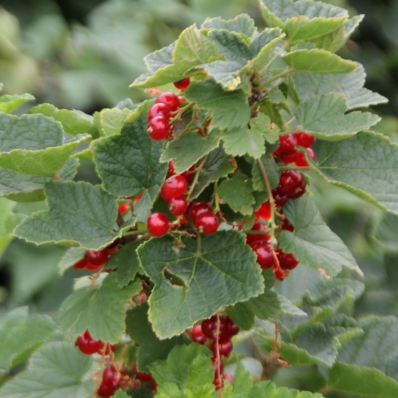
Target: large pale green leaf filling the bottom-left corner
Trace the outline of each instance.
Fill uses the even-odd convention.
[[[95,382],[87,377],[93,359],[70,344],[54,342],[33,353],[27,370],[0,390],[2,398],[91,398]]]

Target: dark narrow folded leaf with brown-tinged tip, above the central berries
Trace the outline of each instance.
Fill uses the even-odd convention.
[[[227,176],[235,170],[230,158],[225,154],[222,145],[210,152],[209,157],[204,164],[198,178],[198,183],[192,193],[192,199],[195,199],[210,183],[218,181],[221,177]]]

